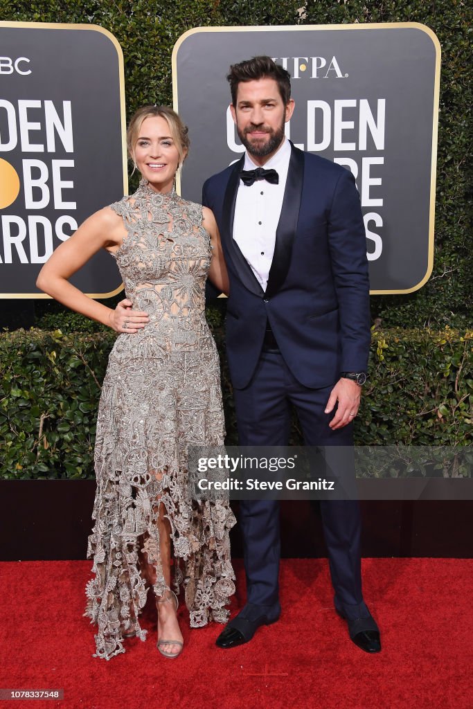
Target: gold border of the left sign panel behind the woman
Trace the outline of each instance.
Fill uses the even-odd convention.
[[[108,30],[100,27],[99,25],[86,25],[78,23],[65,23],[65,22],[12,22],[12,21],[0,21],[1,27],[10,28],[30,28],[30,29],[47,29],[47,30],[92,30],[94,32],[100,32],[106,35],[111,43],[116,49],[118,55],[118,84],[120,86],[120,111],[121,111],[121,152],[122,152],[122,164],[123,164],[123,194],[128,194],[128,164],[127,164],[127,153],[126,153],[126,109],[125,109],[125,69],[123,65],[123,51],[118,43],[117,38]],[[123,290],[123,283],[118,286],[114,291],[109,293],[86,293],[89,298],[111,298],[116,296],[117,293]],[[51,296],[45,293],[0,293],[0,300],[16,300],[21,298],[29,298],[30,300],[38,300],[49,298],[52,300]]]

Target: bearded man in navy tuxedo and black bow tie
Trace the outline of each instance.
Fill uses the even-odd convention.
[[[233,65],[230,106],[246,152],[204,184],[230,278],[227,355],[240,445],[286,445],[291,404],[306,445],[352,446],[369,353],[365,228],[352,174],[284,135],[288,72],[269,57]],[[263,167],[264,166],[264,167]],[[321,501],[335,609],[379,652],[362,597],[357,501]],[[247,603],[217,639],[251,640],[279,618],[279,508],[242,501]]]

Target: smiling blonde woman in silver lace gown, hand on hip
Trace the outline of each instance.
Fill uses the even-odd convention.
[[[189,445],[222,445],[216,345],[205,318],[206,277],[228,287],[212,213],[181,199],[174,175],[187,128],[170,108],[145,106],[128,128],[143,175],[138,191],[89,218],[43,267],[38,287],[120,333],[108,360],[97,420],[97,479],[84,615],[98,625],[94,657],[145,640],[147,581],[157,601],[158,649],[182,649],[172,586],[185,586],[191,627],[226,623],[234,593],[227,501],[196,501],[187,489]],[[111,311],[67,279],[99,247],[116,258],[126,300]],[[174,564],[171,553],[174,552]],[[172,579],[171,568],[174,570]]]

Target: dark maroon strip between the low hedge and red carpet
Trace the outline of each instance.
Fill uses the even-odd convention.
[[[94,494],[94,480],[0,481],[0,559],[85,559]],[[363,557],[472,557],[471,500],[360,505]],[[283,501],[281,527],[282,557],[325,557],[318,503]],[[231,542],[233,557],[242,557],[239,525]]]

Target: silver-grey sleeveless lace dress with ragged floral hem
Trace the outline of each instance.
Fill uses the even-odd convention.
[[[108,360],[97,419],[97,479],[87,558],[93,558],[84,615],[98,626],[94,657],[125,652],[123,633],[145,640],[139,615],[148,588],[141,554],[156,570],[157,596],[169,588],[157,527],[169,520],[175,591],[185,587],[191,627],[226,623],[235,592],[227,501],[192,500],[188,445],[222,445],[220,368],[205,318],[211,262],[202,207],[173,190],[160,195],[145,180],[111,208],[127,236],[115,254],[133,308],[150,321],[118,335]],[[163,509],[163,508],[162,508]]]

